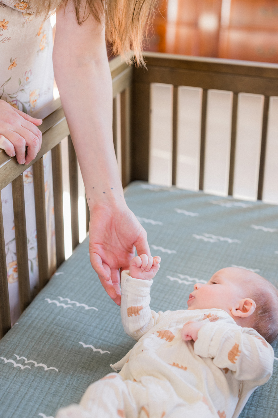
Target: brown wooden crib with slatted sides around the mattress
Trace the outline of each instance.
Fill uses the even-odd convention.
[[[148,69],[110,61],[113,138],[123,186],[144,180],[278,203],[278,65],[145,53]],[[68,136],[73,249],[78,245],[78,163],[60,99],[44,107],[33,165],[39,290],[50,279],[43,155],[51,150],[57,268],[65,260],[61,140]],[[23,171],[0,150],[0,190],[12,183],[20,310],[31,302]],[[89,224],[86,211],[87,231]],[[32,295],[33,297],[35,295]],[[0,337],[10,329],[0,205]]]

